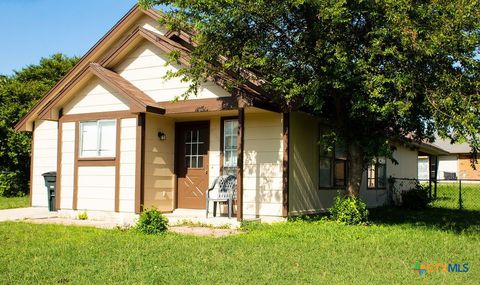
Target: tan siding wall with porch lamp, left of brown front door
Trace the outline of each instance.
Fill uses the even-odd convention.
[[[165,141],[158,132],[167,135]],[[148,114],[145,125],[145,195],[144,205],[172,211],[175,198],[174,175],[175,124],[169,119]]]

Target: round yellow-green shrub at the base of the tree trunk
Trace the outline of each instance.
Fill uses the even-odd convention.
[[[330,219],[347,225],[360,225],[367,222],[367,205],[358,197],[338,195],[328,209]]]

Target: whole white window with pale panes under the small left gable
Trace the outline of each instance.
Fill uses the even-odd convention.
[[[80,157],[114,157],[115,120],[80,122]]]

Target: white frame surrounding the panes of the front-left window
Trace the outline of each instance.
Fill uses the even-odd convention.
[[[96,131],[97,131],[97,142],[96,148],[91,150],[84,150],[84,126],[87,123],[96,123]],[[111,149],[102,149],[102,140],[103,134],[101,130],[103,126],[112,124],[113,123],[113,146]],[[117,121],[115,119],[105,119],[105,120],[88,120],[88,121],[81,121],[80,122],[80,145],[79,145],[79,158],[114,158],[116,154],[116,135],[117,135]],[[91,153],[89,155],[85,155],[84,152],[95,152],[94,155]],[[104,153],[105,152],[105,153]]]

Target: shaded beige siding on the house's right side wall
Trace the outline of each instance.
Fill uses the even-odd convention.
[[[332,205],[337,189],[318,187],[318,119],[304,113],[293,113],[290,119],[290,192],[289,212],[292,215],[325,211]],[[394,158],[387,160],[387,178],[417,177],[417,151],[397,146]],[[367,174],[363,174],[360,197],[369,207],[387,202],[385,189],[367,189]]]

